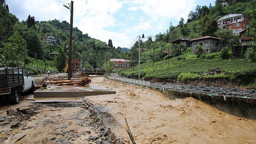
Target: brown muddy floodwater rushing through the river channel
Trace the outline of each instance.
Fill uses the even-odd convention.
[[[116,91],[86,99],[115,135],[127,141],[124,108],[137,143],[256,143],[255,120],[194,98],[170,100],[158,91],[104,77],[94,77],[92,83]]]

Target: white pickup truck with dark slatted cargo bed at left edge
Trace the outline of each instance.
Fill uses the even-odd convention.
[[[0,67],[0,96],[17,104],[21,93],[26,91],[34,92],[32,77],[28,76],[22,68]]]

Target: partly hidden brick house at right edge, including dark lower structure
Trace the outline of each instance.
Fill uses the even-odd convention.
[[[245,29],[239,33],[240,45],[231,47],[231,53],[234,59],[240,58],[241,52],[243,51],[243,53],[245,53],[246,49],[250,47],[250,42],[252,41],[253,37],[248,34],[249,29],[250,28]]]

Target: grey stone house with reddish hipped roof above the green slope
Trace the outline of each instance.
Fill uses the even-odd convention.
[[[209,54],[212,52],[219,51],[221,48],[220,45],[221,39],[214,38],[210,36],[204,36],[201,38],[190,40],[189,42],[192,43],[192,53],[194,53],[196,46],[201,45],[203,47],[203,54]]]

